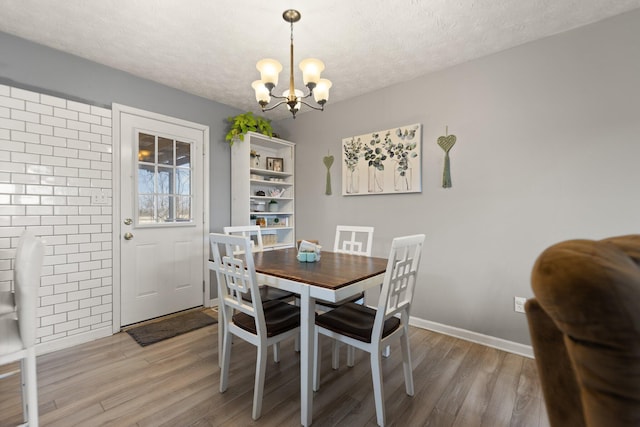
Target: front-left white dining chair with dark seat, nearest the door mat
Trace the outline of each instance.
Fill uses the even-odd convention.
[[[209,240],[213,270],[218,280],[219,312],[224,324],[220,392],[224,393],[228,387],[231,336],[234,335],[257,348],[252,410],[252,418],[257,420],[262,412],[268,347],[273,345],[275,348],[281,341],[299,333],[300,308],[277,300],[262,303],[249,238],[211,233]],[[237,247],[243,249],[243,258],[235,256]],[[251,301],[242,298],[245,293],[251,294]],[[241,356],[246,357],[246,354]],[[275,362],[279,361],[279,356],[274,358]]]

